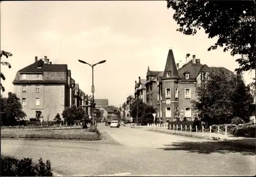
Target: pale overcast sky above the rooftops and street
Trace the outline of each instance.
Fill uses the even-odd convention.
[[[92,71],[78,59],[91,64],[106,60],[94,69],[95,98],[116,106],[134,94],[135,80],[146,77],[148,65],[164,70],[169,48],[176,62],[185,62],[190,53],[209,67],[238,67],[239,56],[222,49],[207,51],[217,39],[208,39],[204,31],[195,36],[177,32],[172,16],[165,1],[1,2],[1,50],[13,54],[2,59],[12,68],[1,65],[6,76],[1,94],[14,91],[16,72],[33,63],[35,56],[68,64],[72,78],[88,95]],[[246,83],[251,77],[244,75]]]

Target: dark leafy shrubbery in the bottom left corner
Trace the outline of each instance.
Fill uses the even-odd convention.
[[[53,174],[49,160],[44,163],[40,158],[38,164],[35,164],[31,158],[18,160],[1,154],[1,176],[53,176]]]

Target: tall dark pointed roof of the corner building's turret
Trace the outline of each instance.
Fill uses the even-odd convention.
[[[170,76],[166,76],[166,72],[169,72]],[[172,49],[169,49],[166,64],[165,64],[165,69],[163,73],[163,77],[161,79],[178,79],[178,71],[174,59],[174,53]]]

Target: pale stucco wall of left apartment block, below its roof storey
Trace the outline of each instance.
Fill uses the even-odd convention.
[[[26,93],[22,93],[22,85],[14,85],[14,92],[20,101],[22,102],[22,98],[26,98],[26,106],[23,106],[23,110],[27,114],[27,120],[35,117],[36,110],[42,112],[45,121],[47,121],[47,116],[49,116],[49,121],[53,121],[57,113],[61,116],[65,106],[65,84],[40,85],[39,93],[35,92],[35,88],[35,84],[27,84]],[[40,99],[39,106],[35,105],[36,98]]]

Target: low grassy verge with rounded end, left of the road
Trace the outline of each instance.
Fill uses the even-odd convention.
[[[63,130],[8,130],[1,131],[1,138],[28,138],[28,139],[62,139],[62,140],[99,140],[100,134],[85,129]]]

